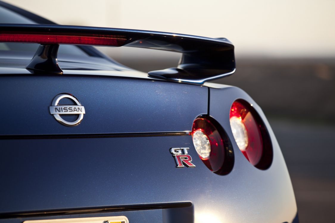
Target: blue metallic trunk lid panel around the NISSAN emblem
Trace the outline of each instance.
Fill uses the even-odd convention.
[[[50,115],[60,93],[75,95],[85,107],[78,126],[63,126]],[[0,94],[0,116],[6,117],[0,135],[190,131],[208,109],[206,87],[148,79],[7,76]]]

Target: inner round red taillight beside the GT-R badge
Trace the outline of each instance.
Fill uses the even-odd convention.
[[[195,119],[191,135],[199,157],[209,170],[220,175],[231,171],[233,165],[231,144],[223,129],[213,118]]]

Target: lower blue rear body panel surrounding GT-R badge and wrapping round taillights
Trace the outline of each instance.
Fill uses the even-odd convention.
[[[0,170],[6,181],[1,183],[0,210],[190,201],[195,222],[205,218],[216,222],[292,222],[297,213],[293,189],[261,109],[241,89],[223,86],[210,89],[209,114],[232,138],[229,109],[237,98],[252,103],[268,128],[274,156],[265,171],[251,165],[233,140],[235,164],[225,176],[207,169],[191,136],[1,140]],[[175,168],[171,147],[190,147],[188,153],[196,168]]]

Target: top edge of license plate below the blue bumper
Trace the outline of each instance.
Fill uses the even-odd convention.
[[[126,216],[29,220],[23,223],[129,223]]]

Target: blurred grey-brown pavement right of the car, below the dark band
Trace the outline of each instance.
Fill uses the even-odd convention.
[[[300,222],[335,222],[335,126],[269,122],[290,173]]]

